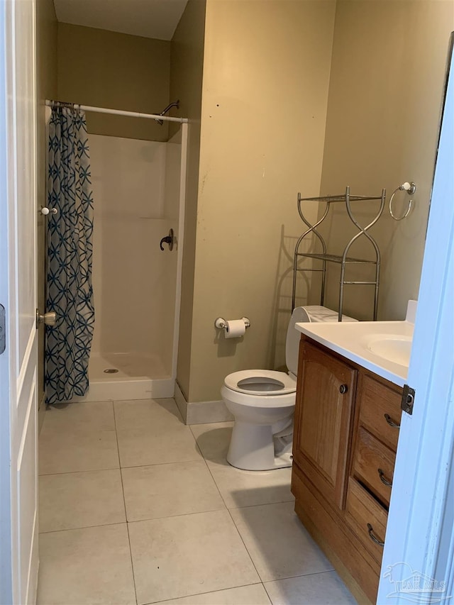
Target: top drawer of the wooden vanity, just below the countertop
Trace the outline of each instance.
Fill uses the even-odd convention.
[[[370,376],[362,375],[357,399],[360,406],[360,424],[394,452],[397,450],[402,416],[401,399],[402,393],[390,389]]]

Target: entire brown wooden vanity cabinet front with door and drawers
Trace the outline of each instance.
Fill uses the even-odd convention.
[[[402,387],[302,335],[295,511],[356,598],[375,603]]]

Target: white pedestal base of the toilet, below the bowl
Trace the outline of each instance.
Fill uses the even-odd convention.
[[[292,466],[291,440],[273,439],[272,426],[236,421],[227,462],[242,470],[274,470]]]

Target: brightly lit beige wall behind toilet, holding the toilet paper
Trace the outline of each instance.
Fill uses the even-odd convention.
[[[319,192],[334,11],[207,1],[189,401],[284,361],[295,200]],[[250,318],[243,340],[219,335],[219,315]]]

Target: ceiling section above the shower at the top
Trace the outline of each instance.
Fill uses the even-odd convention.
[[[54,0],[57,21],[171,40],[187,0]]]

